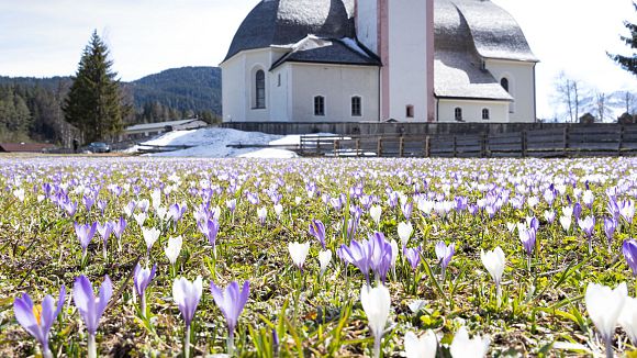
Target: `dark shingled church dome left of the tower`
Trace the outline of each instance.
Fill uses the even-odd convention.
[[[354,0],[261,0],[238,27],[224,60],[245,49],[294,44],[309,34],[356,37]]]

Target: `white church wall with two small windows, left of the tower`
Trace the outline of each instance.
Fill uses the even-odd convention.
[[[379,120],[378,68],[289,63],[291,119],[294,122]],[[314,97],[325,98],[325,115],[314,115]],[[351,115],[351,98],[361,98],[361,115]]]

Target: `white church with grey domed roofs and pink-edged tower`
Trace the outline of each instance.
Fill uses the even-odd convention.
[[[535,65],[490,0],[261,0],[222,68],[224,122],[535,122]]]

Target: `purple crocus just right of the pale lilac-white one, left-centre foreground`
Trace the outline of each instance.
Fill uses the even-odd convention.
[[[232,356],[234,351],[234,331],[238,316],[248,301],[248,295],[250,294],[250,282],[245,281],[241,291],[236,281],[231,282],[225,291],[217,288],[214,282],[210,282],[210,291],[212,292],[214,303],[225,317],[230,335],[227,340],[227,354]]]

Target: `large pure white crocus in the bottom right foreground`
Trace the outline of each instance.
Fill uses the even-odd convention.
[[[597,283],[589,283],[584,301],[586,303],[586,311],[591,320],[595,324],[597,332],[606,344],[606,353],[611,353],[612,357],[612,340],[615,334],[615,326],[617,320],[624,307],[624,300],[628,295],[626,283],[622,282],[614,290]]]

